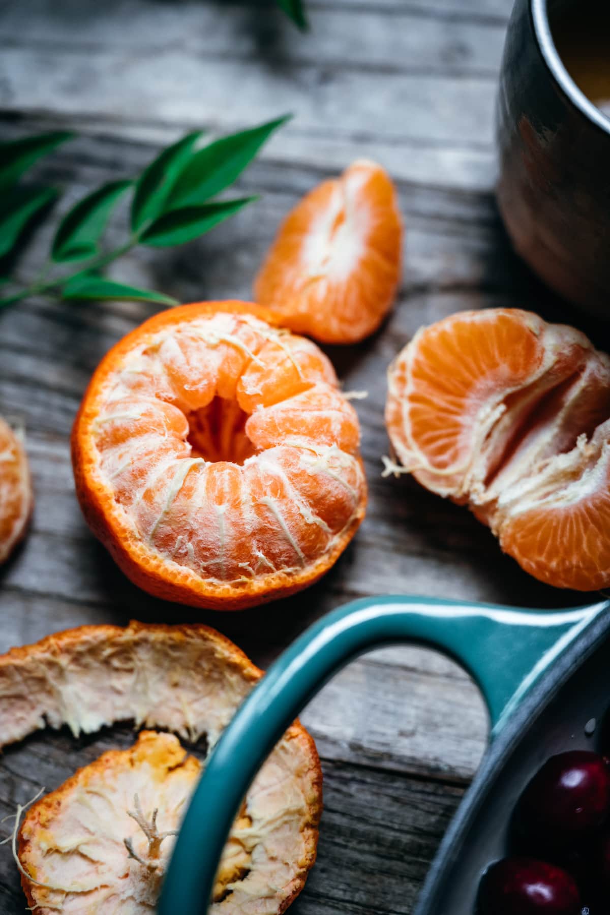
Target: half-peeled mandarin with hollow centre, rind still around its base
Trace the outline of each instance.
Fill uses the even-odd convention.
[[[322,576],[366,506],[358,417],[316,344],[239,302],[146,321],[102,360],[72,458],[80,505],[158,597],[239,609]]]

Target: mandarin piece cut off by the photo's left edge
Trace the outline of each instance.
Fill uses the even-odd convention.
[[[26,450],[0,416],[0,563],[26,533],[33,503]]]

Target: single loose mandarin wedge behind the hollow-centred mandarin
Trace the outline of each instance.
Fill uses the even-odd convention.
[[[401,279],[396,191],[374,162],[354,162],[294,207],[262,265],[254,297],[323,343],[368,337]]]

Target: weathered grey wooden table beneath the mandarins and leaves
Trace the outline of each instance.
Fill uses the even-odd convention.
[[[469,513],[411,479],[381,479],[385,370],[423,323],[463,308],[516,305],[565,318],[511,253],[493,197],[493,108],[510,0],[309,0],[310,34],[247,0],[0,0],[0,131],[70,127],[80,138],[41,169],[63,205],[130,177],[187,129],[294,121],[241,179],[255,206],[203,240],[138,251],[126,281],[183,301],[251,296],[278,222],[352,159],[396,178],[407,227],[404,279],[380,332],[328,350],[357,404],[369,512],[335,569],[299,597],[238,615],[168,607],[132,587],[76,503],[70,425],[102,354],[152,306],[32,298],[0,313],[0,413],[27,428],[37,507],[27,543],[0,573],[0,650],[81,623],[201,619],[270,662],[310,622],[352,597],[391,592],[531,607],[574,605],[498,551]],[[48,244],[43,230],[24,273]],[[568,318],[571,318],[569,314]],[[583,320],[579,322],[583,326]],[[593,332],[595,328],[585,326]],[[352,663],[304,714],[325,771],[319,858],[295,915],[407,913],[485,747],[476,688],[414,648]],[[52,788],[127,729],[74,741],[45,733],[0,759],[0,814]],[[24,910],[0,856],[0,910]]]

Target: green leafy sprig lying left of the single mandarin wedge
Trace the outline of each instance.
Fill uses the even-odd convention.
[[[24,186],[20,179],[42,156],[72,138],[48,133],[0,144],[0,307],[32,295],[123,299],[176,305],[176,299],[118,283],[102,271],[136,245],[173,247],[191,242],[239,212],[253,197],[216,199],[229,188],[288,116],[201,145],[202,131],[168,146],[139,178],[110,181],[80,199],[61,219],[37,278],[26,285],[4,273],[20,252],[24,233],[59,198],[57,188]],[[115,206],[132,193],[129,231],[115,248],[104,233]],[[77,266],[78,265],[78,266]],[[75,269],[76,268],[76,269]],[[7,290],[7,292],[5,292]]]

